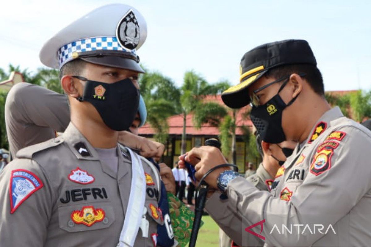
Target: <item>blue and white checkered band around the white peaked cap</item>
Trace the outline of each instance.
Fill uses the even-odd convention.
[[[81,39],[65,44],[58,50],[59,69],[68,61],[71,61],[73,52],[95,51],[95,50],[117,50],[126,51],[134,55],[134,50],[127,50],[119,45],[116,37],[94,37],[88,39]]]

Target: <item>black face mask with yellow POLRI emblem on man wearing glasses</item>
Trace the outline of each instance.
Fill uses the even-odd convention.
[[[283,102],[282,98],[279,96],[279,92],[285,87],[288,80],[282,84],[278,93],[272,99],[268,100],[268,102],[262,106],[253,106],[251,110],[251,120],[259,132],[260,137],[267,143],[277,144],[286,140],[285,133],[282,129],[282,112],[299,96],[298,94],[295,98],[290,100],[288,104]]]

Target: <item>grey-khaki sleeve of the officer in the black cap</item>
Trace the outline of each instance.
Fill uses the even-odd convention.
[[[265,220],[262,235],[267,244],[295,246],[300,243],[301,246],[311,246],[324,235],[309,234],[310,231],[302,234],[280,233],[272,229],[283,224],[322,224],[326,230],[330,224],[333,226],[344,217],[371,188],[370,137],[354,127],[341,131],[346,136],[328,155],[329,168],[320,174],[309,172],[290,201],[259,191],[238,177],[227,187],[230,212],[214,210],[210,211],[214,214],[210,213],[211,216],[219,220],[218,224],[230,236],[239,236],[245,227]],[[214,203],[217,205],[217,201]],[[237,243],[243,245],[243,240]]]

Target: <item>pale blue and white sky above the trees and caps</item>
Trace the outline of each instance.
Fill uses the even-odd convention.
[[[141,62],[180,85],[193,69],[237,84],[242,55],[263,43],[306,39],[326,90],[371,89],[371,1],[18,0],[2,3],[0,67],[36,70],[39,50],[60,29],[108,3],[138,9],[148,36]]]

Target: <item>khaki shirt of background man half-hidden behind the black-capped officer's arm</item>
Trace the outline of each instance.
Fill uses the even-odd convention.
[[[270,186],[272,184],[272,177],[265,170],[263,163],[259,164],[256,173],[246,178],[247,181],[252,183],[258,190],[270,191]],[[223,230],[219,228],[219,247],[230,247],[232,244],[232,239],[228,237]],[[264,242],[259,238],[253,243],[249,243],[249,246],[263,246]]]

